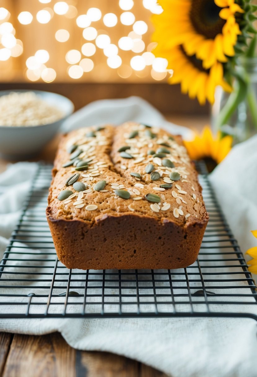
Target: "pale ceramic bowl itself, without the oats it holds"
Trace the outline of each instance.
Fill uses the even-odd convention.
[[[11,160],[26,159],[36,155],[54,137],[66,118],[73,113],[74,105],[68,98],[43,90],[0,90],[0,96],[11,92],[34,92],[42,100],[63,112],[63,118],[40,126],[1,126],[0,155]]]

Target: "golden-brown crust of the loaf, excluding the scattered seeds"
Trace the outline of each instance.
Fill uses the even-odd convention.
[[[64,189],[76,193],[72,186],[65,187],[65,181],[74,172],[74,167],[63,168],[62,165],[69,159],[69,154],[66,152],[67,144],[80,140],[81,135],[88,129],[73,131],[65,135],[61,141],[54,163],[46,215],[57,256],[68,268],[173,269],[187,267],[197,258],[208,222],[208,213],[203,203],[196,170],[183,149],[182,139],[174,136],[175,140],[168,142],[168,136],[171,135],[163,130],[154,129],[152,132],[156,132],[156,140],[150,139],[147,146],[139,148],[144,157],[141,162],[135,162],[136,159],[140,159],[138,156],[133,159],[123,159],[118,148],[130,143],[127,133],[135,128],[142,129],[142,132],[145,130],[140,124],[130,122],[117,128],[106,126],[104,130],[99,131],[98,139],[105,140],[106,144],[95,145],[94,152],[98,162],[104,162],[103,165],[107,167],[99,168],[99,175],[93,176],[93,181],[85,182],[86,184],[90,182],[88,187],[92,187],[92,191],[84,193],[83,208],[75,208],[73,205],[77,200],[76,197],[65,204],[65,201],[59,201],[57,196]],[[144,136],[141,139],[144,141]],[[141,139],[139,135],[139,141]],[[159,187],[165,181],[162,176],[158,182],[153,182],[150,174],[145,173],[146,162],[153,161],[152,156],[147,156],[145,147],[149,149],[148,145],[153,144],[152,148],[156,149],[158,140],[163,139],[171,145],[172,153],[167,155],[167,158],[174,160],[175,167],[171,170],[178,170],[183,174],[179,181],[172,183],[171,189],[159,192],[153,188]],[[87,140],[89,143],[92,141],[93,144],[97,144],[93,139],[86,138]],[[85,145],[87,144],[86,142]],[[176,151],[182,156],[182,162],[178,160]],[[95,167],[99,166],[95,164]],[[124,165],[126,169],[122,169]],[[156,168],[161,171],[160,167],[156,166]],[[165,171],[164,168],[162,170]],[[134,171],[141,174],[140,181],[130,175]],[[183,176],[187,178],[182,179]],[[165,177],[168,175],[166,174]],[[80,176],[80,181],[83,181],[83,178]],[[93,185],[102,179],[107,182],[105,187],[107,192],[95,192]],[[124,185],[124,190],[130,192],[131,197],[123,199],[114,195],[111,188],[113,183]],[[138,183],[143,187],[138,187],[136,185]],[[176,185],[179,185],[181,190],[177,189]],[[134,200],[139,196],[133,192],[135,188],[136,192],[140,192],[142,199]],[[171,194],[172,191],[177,193],[176,198],[173,196],[175,194]],[[179,191],[186,194],[181,194]],[[162,208],[167,202],[170,208],[166,211],[160,209],[158,212],[151,210],[150,204],[153,203],[145,199],[146,193],[149,192],[163,195],[164,199],[161,198],[159,207]],[[193,198],[193,194],[196,199]],[[174,217],[173,211],[174,208],[180,207],[177,201],[179,197],[187,204],[179,200],[183,215],[177,218]],[[86,210],[88,204],[97,205],[97,209]],[[134,211],[128,209],[129,207]],[[185,218],[186,214],[190,214],[190,217]]]

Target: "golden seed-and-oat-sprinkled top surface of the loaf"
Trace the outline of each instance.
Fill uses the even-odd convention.
[[[74,145],[77,147],[73,156],[81,150],[77,159],[87,161],[85,170],[75,170],[73,165],[63,167],[71,161],[69,152]],[[121,147],[129,149],[119,152]],[[165,153],[150,154],[158,150]],[[153,165],[152,173],[158,172],[159,178],[158,173],[151,175],[145,171],[148,164]],[[165,164],[174,167],[163,166]],[[170,173],[174,172],[179,173],[177,181],[170,179]],[[86,185],[83,192],[75,190],[76,184],[74,188],[66,186],[66,181],[75,173],[80,174],[77,182]],[[140,178],[131,173],[139,174]],[[156,176],[158,179],[153,180]],[[47,208],[52,219],[80,220],[88,222],[89,226],[108,216],[123,215],[150,216],[158,222],[174,222],[180,226],[208,219],[197,172],[181,136],[144,124],[127,122],[118,127],[86,127],[64,135],[55,158],[53,177]],[[106,181],[106,185],[96,191],[95,184],[99,181]],[[160,187],[163,184],[172,186]],[[123,198],[124,191],[116,191],[121,197],[116,195],[117,189],[124,190],[125,196],[130,197]],[[73,195],[61,201],[58,196],[63,190],[70,190]],[[158,195],[158,202],[149,201],[156,200],[156,196],[149,194]]]

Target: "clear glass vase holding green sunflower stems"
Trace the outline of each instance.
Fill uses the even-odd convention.
[[[212,107],[212,127],[237,144],[257,133],[257,57],[241,58],[233,92],[217,87]]]

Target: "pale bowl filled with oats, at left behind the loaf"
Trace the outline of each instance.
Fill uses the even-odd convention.
[[[73,110],[73,103],[57,93],[0,91],[0,156],[20,160],[37,155]]]

